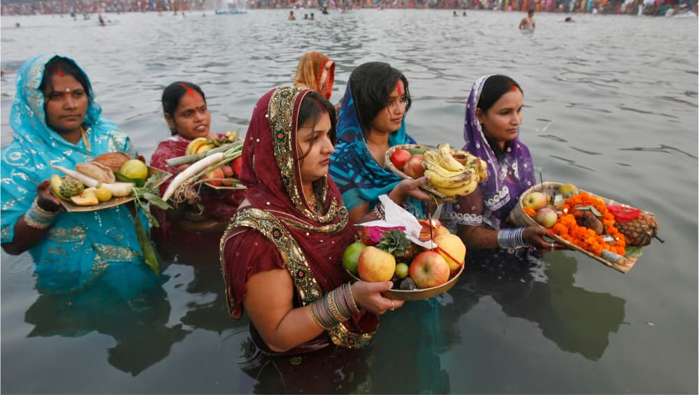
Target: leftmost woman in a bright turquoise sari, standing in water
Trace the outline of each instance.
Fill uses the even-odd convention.
[[[78,64],[55,54],[24,62],[10,126],[14,141],[2,150],[3,250],[29,251],[38,287],[52,292],[99,284],[128,299],[159,286],[139,245],[134,206],[68,213],[49,192],[48,179],[59,173],[51,165],[75,168],[106,152],[136,155],[129,138],[101,116]]]

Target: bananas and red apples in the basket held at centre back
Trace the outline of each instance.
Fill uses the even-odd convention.
[[[391,164],[412,178],[428,175],[428,184],[444,196],[465,196],[488,178],[484,160],[463,150],[452,150],[448,143],[437,150],[396,149]]]

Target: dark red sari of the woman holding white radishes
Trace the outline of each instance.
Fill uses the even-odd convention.
[[[188,138],[182,137],[179,134],[171,136],[166,141],[159,143],[158,148],[153,153],[150,159],[150,166],[167,171],[168,173],[177,174],[178,169],[168,166],[166,159],[181,157],[185,155]],[[167,180],[160,186],[160,194],[163,194],[170,185],[172,178]],[[199,203],[203,207],[202,215],[216,222],[227,223],[233,217],[233,214],[238,209],[240,202],[245,199],[245,190],[243,189],[213,189],[202,185],[199,189]],[[187,248],[182,248],[178,254],[187,254],[187,250],[191,250],[192,245],[197,245],[205,250],[215,251],[211,254],[212,257],[217,255],[218,244],[222,232],[203,233],[187,231],[182,229],[177,222],[170,222],[166,216],[166,211],[157,207],[151,207],[151,213],[158,220],[160,227],[153,227],[151,235],[160,247],[161,254],[169,256],[178,250],[177,246],[189,245]],[[167,249],[168,251],[165,251]],[[192,258],[201,259],[199,252],[192,255]]]

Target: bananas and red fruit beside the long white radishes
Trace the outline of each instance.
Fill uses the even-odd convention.
[[[219,134],[217,138],[213,139],[207,139],[205,137],[194,138],[194,140],[190,141],[187,145],[185,154],[201,154],[226,144],[235,143],[236,141],[240,141],[240,138],[235,131],[227,131],[226,134]],[[189,164],[179,166],[177,173],[180,173],[188,167]],[[229,187],[236,185],[239,182],[238,178],[240,178],[240,168],[242,167],[243,158],[237,155],[235,158],[231,159],[231,161],[210,169],[210,171],[201,176],[201,179],[205,180],[204,182],[206,182],[206,184],[213,187]]]

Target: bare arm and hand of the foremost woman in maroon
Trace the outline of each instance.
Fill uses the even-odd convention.
[[[381,296],[391,282],[359,281],[352,285],[357,306],[375,314],[403,306]],[[255,329],[275,352],[284,352],[316,338],[324,329],[311,315],[312,305],[294,308],[294,283],[286,269],[263,271],[247,280],[243,306]],[[325,303],[324,300],[315,303]]]

